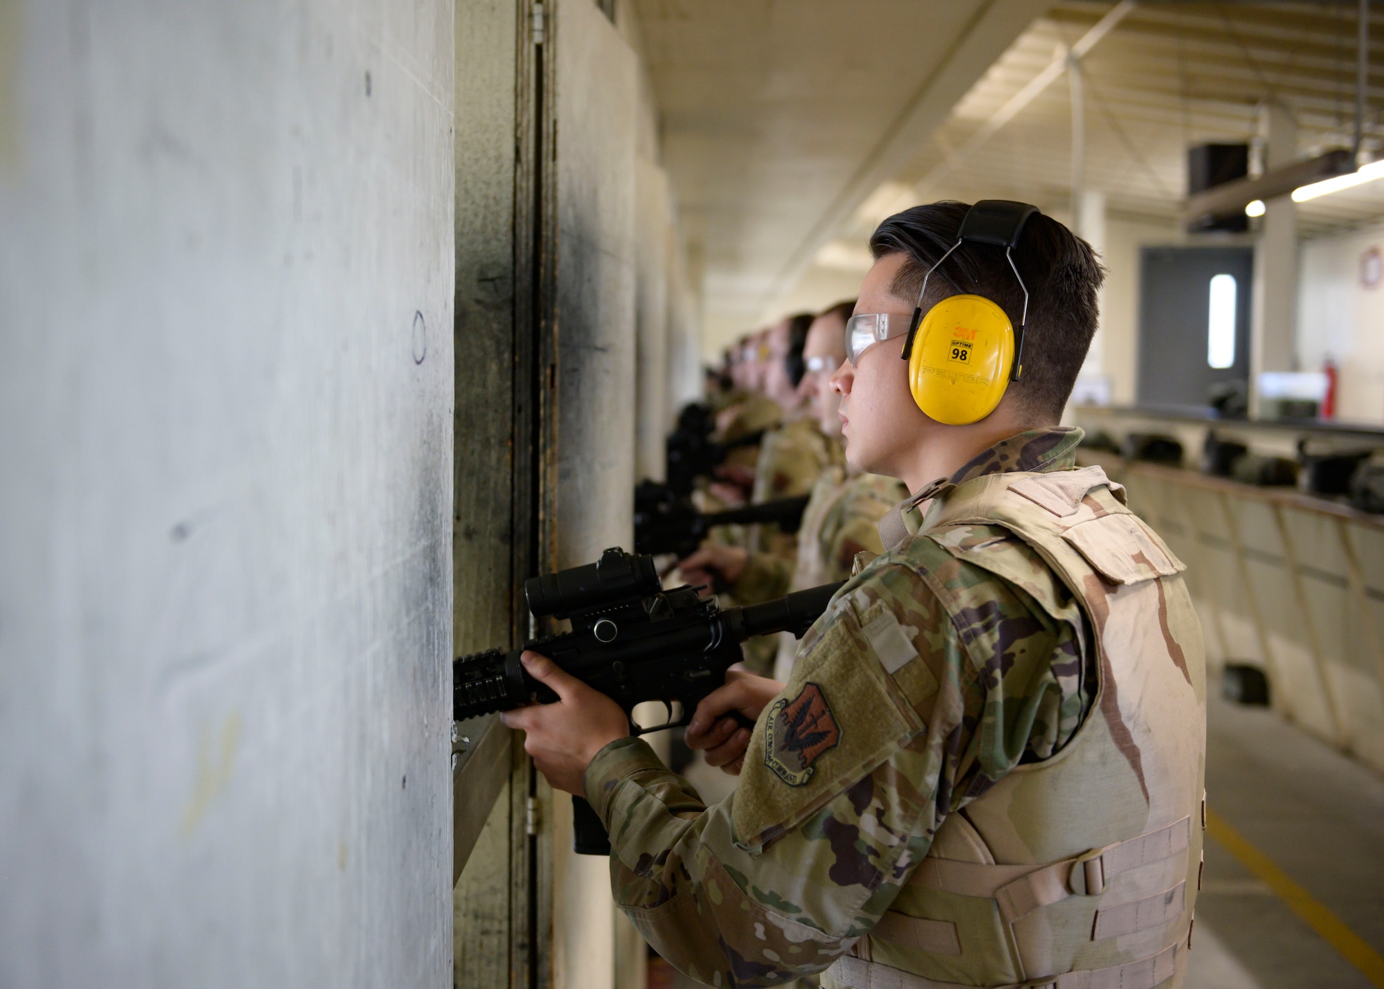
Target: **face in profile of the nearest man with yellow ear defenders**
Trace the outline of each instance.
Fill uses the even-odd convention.
[[[890,291],[904,263],[898,253],[884,255],[865,276],[857,313],[898,313],[905,319],[913,306]],[[895,337],[869,346],[853,367],[843,362],[832,375],[832,388],[841,396],[841,435],[846,463],[859,471],[902,476],[911,454],[925,442],[933,420],[927,418],[908,391],[908,364],[900,360],[904,338]]]

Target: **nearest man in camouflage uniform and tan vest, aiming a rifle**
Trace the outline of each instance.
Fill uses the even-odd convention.
[[[963,209],[901,215],[905,244],[876,247],[861,305],[907,321],[909,259],[927,259],[945,242],[936,227],[955,230]],[[621,737],[613,702],[526,654],[563,704],[505,723],[530,733],[526,749],[554,785],[584,792],[610,834],[616,902],[700,982],[1182,982],[1204,824],[1200,627],[1182,564],[1099,467],[1075,470],[1081,432],[1012,428],[1030,414],[1055,421],[1070,392],[1041,391],[1045,332],[1060,319],[1081,327],[1050,355],[1060,381],[1095,330],[1089,248],[1045,217],[1038,237],[1020,245],[1042,255],[1017,252],[1038,377],[987,424],[943,427],[880,403],[900,393],[902,341],[876,341],[833,377],[847,400],[864,395],[848,456],[897,470],[918,493],[882,519],[886,551],[833,596],[786,684],[745,677],[699,706],[688,736],[706,736],[709,751],[721,715],[757,713],[731,796],[707,808],[645,742]],[[996,260],[972,278],[991,294]],[[1020,396],[1042,399],[1039,411]],[[995,432],[920,482],[948,443]],[[756,702],[728,701],[736,691]]]

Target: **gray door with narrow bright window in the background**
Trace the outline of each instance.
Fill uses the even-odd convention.
[[[1248,381],[1253,273],[1250,247],[1143,248],[1139,404],[1205,406],[1215,385]]]

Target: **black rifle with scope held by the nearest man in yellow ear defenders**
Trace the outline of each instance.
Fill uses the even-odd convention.
[[[630,718],[631,733],[684,726],[698,702],[725,683],[725,670],[742,658],[742,641],[776,632],[801,636],[840,586],[722,609],[713,598],[700,598],[696,587],[663,590],[652,557],[606,550],[599,562],[525,582],[529,611],[536,618],[570,619],[572,632],[508,652],[489,650],[458,658],[451,666],[453,719],[556,701],[556,694],[519,662],[523,650],[534,650],[614,700]],[[645,701],[663,702],[668,720],[652,727],[635,724],[634,706]],[[675,722],[673,701],[682,708]],[[577,852],[609,853],[601,820],[580,798],[573,798],[573,827]]]

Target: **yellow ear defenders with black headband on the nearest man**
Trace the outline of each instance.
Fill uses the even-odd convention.
[[[966,212],[956,242],[923,278],[913,310],[913,326],[904,344],[908,388],[923,413],[945,425],[969,425],[995,411],[1005,389],[1019,378],[1023,360],[1023,328],[1028,319],[1028,288],[1019,277],[1010,252],[1024,223],[1037,206],[1008,199],[981,199]],[[1009,267],[1024,292],[1024,314],[1019,330],[995,302],[983,295],[952,295],[922,319],[927,280],[952,251],[965,242],[1005,248]]]

